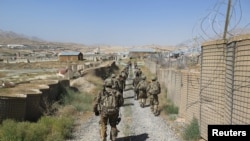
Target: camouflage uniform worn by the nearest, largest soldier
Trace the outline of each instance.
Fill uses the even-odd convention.
[[[97,97],[95,98],[94,102],[94,112],[95,115],[98,116],[100,114],[100,136],[102,141],[106,141],[107,137],[107,124],[109,123],[111,126],[110,130],[110,140],[115,141],[117,135],[118,135],[118,129],[116,125],[118,124],[119,120],[119,108],[121,105],[123,105],[124,99],[121,95],[121,93],[115,89],[112,88],[112,81],[109,80],[110,82],[107,82],[104,84],[105,88],[103,91],[99,92]],[[103,99],[106,97],[106,93],[113,93],[115,94],[115,98],[117,101],[117,106],[115,108],[115,112],[113,114],[107,114],[107,108],[103,104]]]

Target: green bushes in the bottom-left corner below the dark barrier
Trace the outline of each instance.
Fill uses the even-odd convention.
[[[37,123],[4,120],[0,127],[1,141],[61,141],[72,136],[73,119],[42,117]]]

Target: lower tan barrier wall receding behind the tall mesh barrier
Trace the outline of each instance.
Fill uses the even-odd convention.
[[[186,122],[200,118],[200,72],[159,69],[159,81],[167,88],[167,97],[179,107]]]

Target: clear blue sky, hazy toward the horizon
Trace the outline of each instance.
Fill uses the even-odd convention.
[[[0,29],[86,45],[176,45],[222,32],[227,2],[0,0]],[[250,0],[232,0],[232,4],[231,27],[249,28]]]

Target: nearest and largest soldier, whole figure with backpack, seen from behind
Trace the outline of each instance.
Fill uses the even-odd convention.
[[[100,114],[100,136],[106,141],[107,124],[111,126],[110,140],[115,141],[118,135],[116,125],[120,122],[119,108],[123,105],[124,99],[121,93],[112,88],[112,80],[106,79],[104,89],[95,98],[93,111],[96,116]]]

